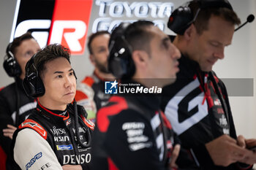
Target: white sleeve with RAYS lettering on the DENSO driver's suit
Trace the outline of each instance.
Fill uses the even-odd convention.
[[[30,128],[19,131],[13,152],[20,169],[62,170],[50,144]]]

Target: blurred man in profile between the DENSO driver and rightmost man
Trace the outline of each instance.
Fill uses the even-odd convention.
[[[110,36],[108,68],[121,79],[119,87],[162,88],[172,83],[180,52],[169,37],[150,21],[127,25],[121,23]],[[109,103],[97,112],[93,169],[177,167],[179,145],[173,142],[171,125],[159,109],[159,99],[156,93],[120,93],[110,97]]]

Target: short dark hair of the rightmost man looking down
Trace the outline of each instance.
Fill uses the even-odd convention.
[[[189,8],[192,10],[194,16],[199,7],[200,1],[191,1],[189,4]],[[211,18],[211,15],[223,18],[234,26],[241,23],[240,18],[238,18],[238,15],[232,9],[228,9],[227,7],[207,7],[200,9],[194,22],[197,34],[202,34],[203,31],[208,30],[208,20]]]

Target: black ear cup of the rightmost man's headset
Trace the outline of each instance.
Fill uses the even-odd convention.
[[[181,6],[172,12],[167,27],[176,34],[183,35],[187,28],[189,28],[192,20],[193,14],[191,9]]]

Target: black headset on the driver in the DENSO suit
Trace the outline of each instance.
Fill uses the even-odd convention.
[[[39,72],[37,72],[37,69],[34,66],[34,58],[36,57],[37,53],[35,53],[26,63],[26,75],[23,80],[23,88],[26,91],[26,94],[32,98],[37,98],[45,94],[45,86],[39,76]]]

